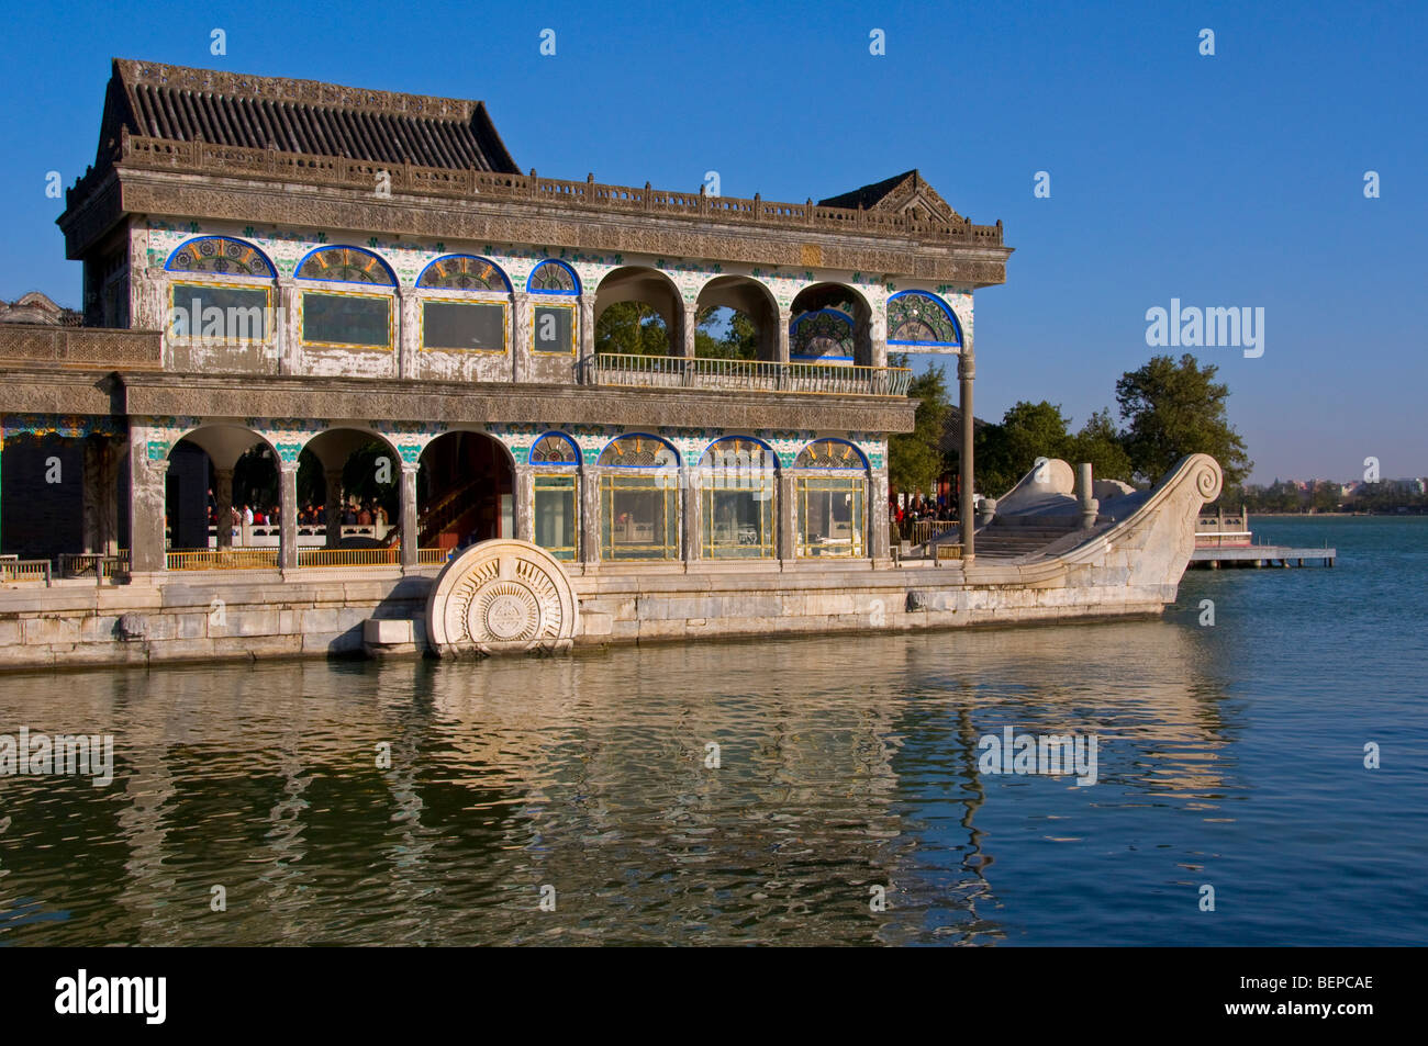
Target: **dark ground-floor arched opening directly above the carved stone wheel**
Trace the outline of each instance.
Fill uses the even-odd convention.
[[[418,548],[466,548],[516,537],[516,471],[510,451],[484,432],[437,437],[417,472]]]

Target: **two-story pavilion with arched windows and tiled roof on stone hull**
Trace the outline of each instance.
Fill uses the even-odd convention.
[[[84,327],[0,325],[0,541],[23,554],[21,517],[70,498],[43,555],[127,551],[149,581],[417,572],[490,537],[573,572],[877,561],[887,440],[914,411],[888,352],[958,357],[970,474],[972,294],[1011,253],[917,171],[818,204],[560,181],[521,174],[478,101],[131,60],[59,224]],[[597,351],[631,301],[665,355]],[[757,358],[700,355],[708,307],[748,318]],[[9,467],[36,452],[81,489]],[[227,518],[254,458],[274,534],[190,525],[206,487]],[[367,549],[343,547],[354,461],[396,508]]]

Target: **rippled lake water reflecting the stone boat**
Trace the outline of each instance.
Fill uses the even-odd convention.
[[[1130,624],[0,676],[0,733],[116,762],[0,778],[0,943],[1422,945],[1428,519],[1252,522],[1338,567]],[[1097,782],[984,772],[1007,726]]]

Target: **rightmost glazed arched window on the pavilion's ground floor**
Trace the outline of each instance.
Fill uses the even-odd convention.
[[[808,472],[794,478],[795,554],[801,557],[860,557],[867,547],[867,459],[844,440],[815,440],[794,467]]]

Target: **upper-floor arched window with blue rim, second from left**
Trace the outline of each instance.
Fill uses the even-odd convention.
[[[321,247],[297,267],[298,280],[396,287],[381,258],[360,247]],[[368,348],[390,352],[393,347],[391,294],[351,291],[303,291],[301,341],[314,348]]]

